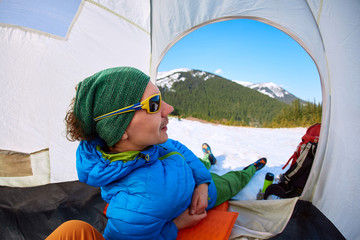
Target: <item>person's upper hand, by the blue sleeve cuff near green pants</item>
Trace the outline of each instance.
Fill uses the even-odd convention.
[[[208,206],[208,183],[198,185],[193,193],[190,205],[190,214],[202,214]]]

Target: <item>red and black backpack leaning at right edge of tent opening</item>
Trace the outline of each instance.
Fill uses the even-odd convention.
[[[283,169],[290,163],[290,168],[280,175],[279,183],[267,187],[264,199],[270,195],[280,198],[291,198],[300,196],[314,161],[317,144],[319,141],[321,124],[317,123],[309,127],[302,141],[296,148]]]

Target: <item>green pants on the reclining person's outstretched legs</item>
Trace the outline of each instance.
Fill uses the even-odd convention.
[[[211,163],[208,154],[205,154],[204,158],[200,159],[200,161],[204,163],[207,169],[210,168]],[[238,194],[240,190],[248,184],[255,172],[255,166],[250,166],[246,170],[231,171],[222,176],[210,173],[217,191],[215,206],[220,205]]]

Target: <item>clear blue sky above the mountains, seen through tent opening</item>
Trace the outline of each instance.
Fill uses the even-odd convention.
[[[218,22],[191,32],[167,52],[158,71],[176,68],[274,82],[303,100],[321,102],[319,73],[307,52],[287,34],[255,20]]]

